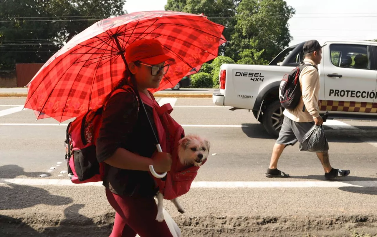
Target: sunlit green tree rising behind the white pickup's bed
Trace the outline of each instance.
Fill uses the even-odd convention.
[[[236,12],[230,46],[225,50],[234,61],[270,61],[292,40],[288,20],[295,10],[284,0],[243,0]]]

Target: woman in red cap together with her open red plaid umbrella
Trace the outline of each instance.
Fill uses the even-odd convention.
[[[226,42],[223,30],[204,15],[184,12],[104,19],[68,41],[29,82],[24,107],[37,119],[63,122],[104,106],[96,153],[116,211],[112,237],[172,236],[165,221],[155,220],[154,177],[166,175],[172,158],[162,152],[166,132],[152,93],[216,58]]]

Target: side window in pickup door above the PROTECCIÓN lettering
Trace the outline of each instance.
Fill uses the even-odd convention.
[[[330,57],[337,67],[370,69],[370,56],[366,45],[331,44]]]

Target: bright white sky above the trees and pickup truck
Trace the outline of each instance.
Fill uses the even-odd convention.
[[[127,0],[124,9],[164,11],[167,0]],[[377,1],[286,0],[296,10],[288,21],[292,44],[306,40],[377,39]]]

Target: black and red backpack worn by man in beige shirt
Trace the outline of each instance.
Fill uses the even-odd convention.
[[[311,66],[311,64],[300,64],[283,76],[279,87],[279,100],[283,108],[294,109],[299,104],[302,96],[299,76],[307,66]]]

